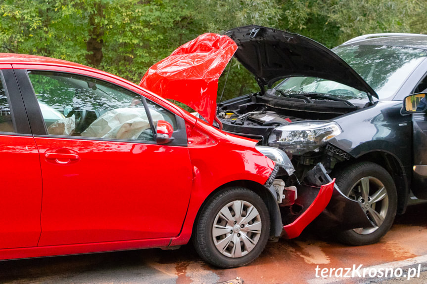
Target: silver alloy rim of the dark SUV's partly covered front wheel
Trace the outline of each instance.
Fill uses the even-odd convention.
[[[375,225],[373,228],[357,228],[353,231],[360,235],[375,232],[384,222],[388,212],[388,194],[382,182],[376,177],[363,177],[351,187],[348,197],[359,202]]]

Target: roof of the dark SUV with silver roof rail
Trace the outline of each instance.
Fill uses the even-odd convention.
[[[427,35],[418,34],[371,34],[356,37],[341,45],[389,45],[427,50]]]

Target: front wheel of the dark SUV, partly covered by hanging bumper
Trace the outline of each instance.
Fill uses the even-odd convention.
[[[357,228],[337,234],[338,241],[349,245],[377,243],[393,224],[397,210],[397,192],[393,178],[374,162],[359,162],[337,172],[336,185],[347,197],[362,203],[368,218],[377,226]],[[368,193],[368,195],[366,195]],[[368,196],[368,200],[366,200]]]

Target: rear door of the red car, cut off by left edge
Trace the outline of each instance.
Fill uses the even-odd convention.
[[[0,249],[37,246],[42,173],[11,65],[0,64]]]

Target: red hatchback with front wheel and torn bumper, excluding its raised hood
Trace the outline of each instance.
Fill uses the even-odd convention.
[[[1,260],[192,237],[207,262],[236,267],[298,236],[336,192],[321,166],[299,185],[281,150],[83,65],[0,54],[0,108]]]

